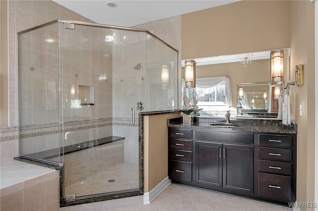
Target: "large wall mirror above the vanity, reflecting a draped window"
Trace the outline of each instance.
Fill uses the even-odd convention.
[[[278,117],[280,119],[282,106],[279,104],[279,99],[274,98],[274,86],[270,85],[270,52],[191,58],[196,63],[196,88],[186,87],[184,67],[185,61],[189,59],[182,60],[181,91],[188,98],[191,98],[191,93],[194,93],[195,106],[202,108],[200,116],[223,117],[226,111],[230,110],[232,116],[242,118]],[[283,52],[284,72],[288,74],[289,48],[283,49]],[[285,80],[288,78],[285,77]],[[219,83],[213,83],[215,79]],[[227,81],[229,81],[230,87]],[[210,82],[213,87],[206,85]],[[241,98],[239,97],[239,87],[244,89]],[[231,90],[231,97],[229,97],[228,90]]]

